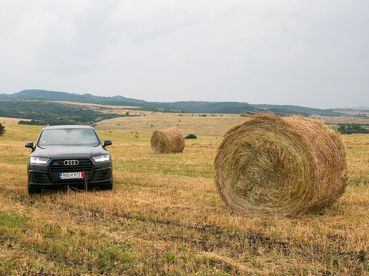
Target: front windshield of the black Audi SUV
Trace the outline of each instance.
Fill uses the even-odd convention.
[[[38,146],[96,146],[99,139],[92,129],[58,128],[42,131]]]

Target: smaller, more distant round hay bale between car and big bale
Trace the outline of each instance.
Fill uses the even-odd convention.
[[[175,127],[155,130],[151,136],[151,149],[154,153],[182,152],[184,137]]]

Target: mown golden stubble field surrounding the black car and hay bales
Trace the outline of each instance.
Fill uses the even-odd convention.
[[[292,218],[238,215],[215,191],[213,160],[239,117],[185,115],[155,115],[155,129],[178,118],[185,134],[199,134],[169,155],[151,152],[145,121],[99,123],[100,138],[113,141],[113,190],[32,197],[24,144],[41,127],[4,124],[0,275],[369,274],[369,135],[344,135],[351,183],[330,208]]]

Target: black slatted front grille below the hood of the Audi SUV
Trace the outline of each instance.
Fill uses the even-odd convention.
[[[66,166],[65,160],[78,160],[77,165]],[[84,172],[87,179],[92,172],[93,163],[89,158],[74,158],[74,159],[53,159],[49,164],[51,176],[54,180],[60,180],[60,173],[77,173]]]

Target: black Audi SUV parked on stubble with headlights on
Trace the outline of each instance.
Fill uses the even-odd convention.
[[[90,125],[54,125],[42,128],[27,162],[28,194],[44,188],[113,188],[113,169],[106,146]]]

